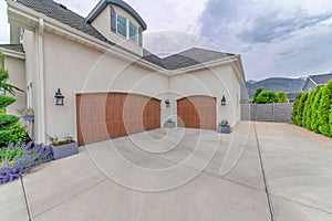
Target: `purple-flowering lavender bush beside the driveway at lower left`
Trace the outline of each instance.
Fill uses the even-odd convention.
[[[38,144],[9,144],[0,149],[0,185],[20,178],[30,169],[53,159],[52,148]]]

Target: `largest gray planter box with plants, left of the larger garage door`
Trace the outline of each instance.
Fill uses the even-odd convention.
[[[46,135],[46,139],[52,144],[54,160],[79,154],[79,145],[73,137],[66,135],[63,140],[59,140],[56,136]]]

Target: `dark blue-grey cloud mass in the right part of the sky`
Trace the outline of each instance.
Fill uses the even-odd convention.
[[[239,53],[247,78],[330,71],[332,6],[329,0],[209,0],[200,34]]]

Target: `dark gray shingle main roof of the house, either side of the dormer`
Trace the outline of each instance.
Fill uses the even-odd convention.
[[[86,23],[83,17],[74,13],[73,11],[66,9],[66,7],[58,2],[54,2],[52,0],[17,0],[17,2],[37,12],[45,14],[46,17],[54,19],[63,24],[76,29],[77,31],[94,36],[103,42],[116,45],[115,43],[108,41],[91,24]],[[157,55],[143,50],[142,59],[165,70],[178,70],[232,55],[234,54],[194,48],[164,59],[160,59]]]

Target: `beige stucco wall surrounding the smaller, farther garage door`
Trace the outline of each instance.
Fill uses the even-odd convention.
[[[217,98],[216,128],[222,119],[228,119],[231,126],[240,120],[240,83],[230,64],[172,76],[169,91],[172,97],[169,114],[174,116],[173,118],[177,115],[177,99],[193,95],[206,95]],[[220,104],[222,95],[227,99],[225,106]]]

